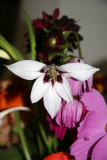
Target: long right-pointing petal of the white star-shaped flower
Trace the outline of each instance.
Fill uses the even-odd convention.
[[[64,76],[72,77],[80,81],[85,81],[89,79],[99,68],[92,67],[84,63],[68,63],[60,66],[64,73]]]

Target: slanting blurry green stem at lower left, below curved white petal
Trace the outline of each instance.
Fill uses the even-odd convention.
[[[30,153],[29,153],[28,148],[27,148],[27,143],[26,143],[26,140],[25,140],[25,136],[24,136],[23,130],[21,128],[21,122],[20,122],[20,117],[19,117],[19,112],[18,111],[15,112],[15,117],[16,117],[19,136],[20,136],[20,139],[21,139],[21,142],[22,142],[24,153],[25,153],[25,157],[26,157],[27,160],[31,160]]]

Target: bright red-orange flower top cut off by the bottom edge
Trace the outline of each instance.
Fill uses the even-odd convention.
[[[52,153],[51,155],[45,157],[43,160],[75,160],[73,157],[69,157],[68,153],[58,152]]]

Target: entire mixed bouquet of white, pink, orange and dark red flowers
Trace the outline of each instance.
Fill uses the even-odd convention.
[[[11,160],[107,159],[107,106],[93,85],[99,68],[82,57],[80,26],[59,19],[59,9],[32,22],[24,15],[29,59],[0,35],[0,57],[12,72],[1,81],[0,131],[9,130],[2,131],[0,154]]]

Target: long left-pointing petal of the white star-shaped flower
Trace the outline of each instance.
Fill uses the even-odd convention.
[[[45,66],[46,65],[44,63],[32,60],[18,61],[11,65],[6,65],[11,72],[27,80],[33,80],[43,75],[44,73],[39,71]]]

